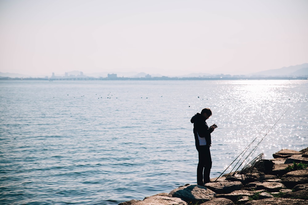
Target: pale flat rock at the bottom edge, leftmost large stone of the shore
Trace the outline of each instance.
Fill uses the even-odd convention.
[[[146,197],[143,201],[138,201],[130,205],[187,205],[185,201],[176,197],[169,197],[163,195],[154,195]]]

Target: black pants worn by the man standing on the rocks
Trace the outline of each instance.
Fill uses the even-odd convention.
[[[199,162],[197,167],[197,184],[203,185],[210,182],[210,171],[212,168],[212,158],[210,146],[196,146],[198,150]]]

